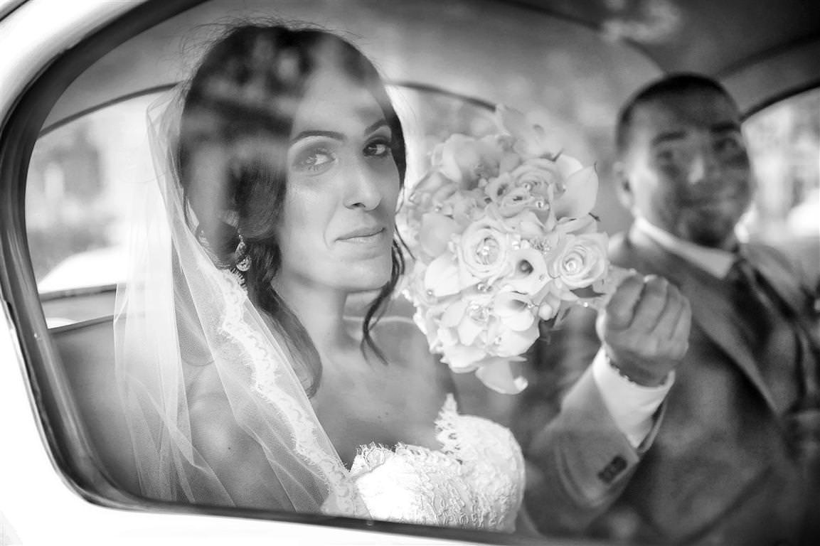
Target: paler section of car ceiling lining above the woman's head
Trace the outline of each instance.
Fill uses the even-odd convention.
[[[220,23],[270,17],[309,20],[348,36],[388,80],[432,84],[490,102],[510,97],[487,96],[479,78],[514,69],[519,75],[531,71],[537,80],[547,51],[565,54],[579,71],[621,79],[622,85],[609,90],[613,102],[626,98],[636,80],[659,74],[653,61],[626,43],[608,42],[588,26],[505,2],[248,0],[237,7],[230,0],[208,0],[100,58],[66,89],[46,125],[112,98],[173,84],[189,73]]]

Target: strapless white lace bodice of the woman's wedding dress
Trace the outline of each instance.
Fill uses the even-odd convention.
[[[459,415],[452,395],[435,422],[440,449],[362,446],[351,477],[371,517],[512,532],[524,494],[524,459],[512,433]]]

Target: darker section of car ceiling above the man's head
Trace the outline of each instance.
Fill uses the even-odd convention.
[[[515,0],[618,36],[663,72],[727,86],[747,114],[820,84],[820,2],[804,0]]]

